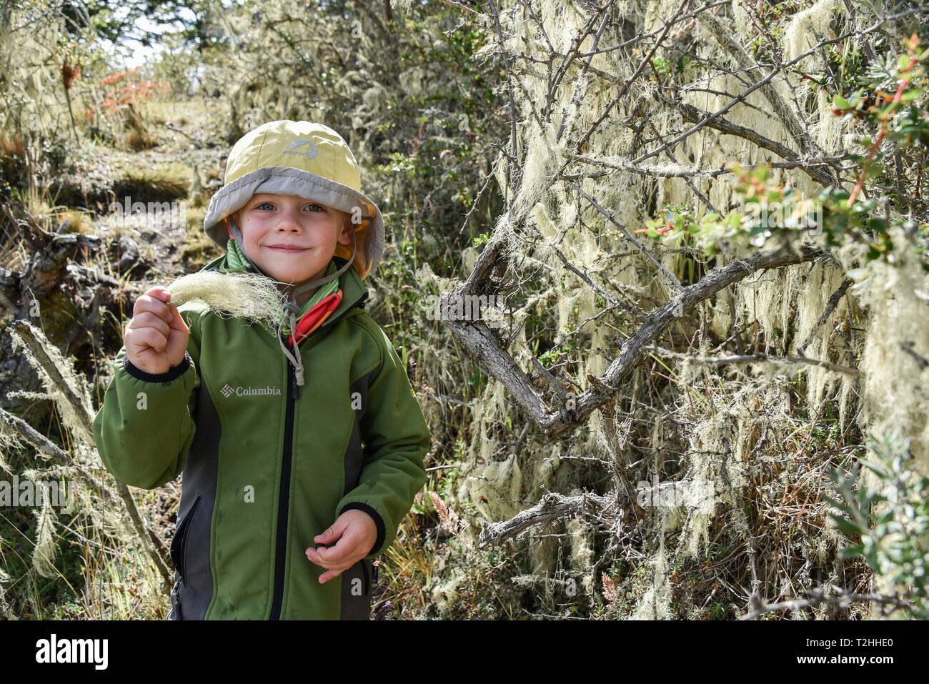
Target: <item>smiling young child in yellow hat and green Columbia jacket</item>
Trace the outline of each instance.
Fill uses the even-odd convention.
[[[369,619],[373,559],[431,441],[363,310],[380,211],[333,129],[274,121],[233,146],[203,226],[227,248],[203,270],[263,273],[287,295],[277,339],[152,287],[94,420],[100,457],[143,489],[183,471],[169,619]]]

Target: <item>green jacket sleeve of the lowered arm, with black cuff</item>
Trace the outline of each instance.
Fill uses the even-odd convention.
[[[425,485],[423,461],[432,436],[397,352],[380,326],[380,371],[368,386],[368,406],[361,417],[364,465],[359,485],[336,506],[368,513],[377,525],[377,540],[365,559],[374,559],[397,538],[397,528]]]

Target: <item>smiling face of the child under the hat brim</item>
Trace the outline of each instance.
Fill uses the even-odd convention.
[[[321,278],[336,243],[351,246],[346,212],[296,195],[256,194],[232,216],[248,257],[284,283]]]

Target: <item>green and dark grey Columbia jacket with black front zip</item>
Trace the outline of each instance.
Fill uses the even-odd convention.
[[[203,270],[254,269],[227,254]],[[370,618],[373,560],[425,484],[431,437],[355,269],[339,287],[338,307],[299,345],[302,388],[275,331],[203,303],[178,308],[190,341],[168,372],[118,352],[94,420],[104,466],[142,489],[183,473],[169,619]],[[321,585],[305,551],[350,508],[372,517],[377,540]]]

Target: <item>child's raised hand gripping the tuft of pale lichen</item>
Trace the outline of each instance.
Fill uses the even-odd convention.
[[[146,373],[167,373],[184,361],[190,328],[170,299],[171,293],[161,286],[139,296],[123,332],[125,355]]]

